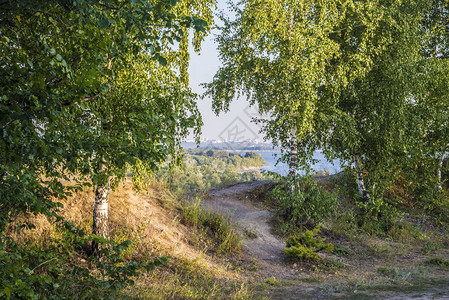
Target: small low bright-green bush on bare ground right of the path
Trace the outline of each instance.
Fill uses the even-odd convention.
[[[285,256],[290,261],[319,261],[319,251],[332,252],[334,244],[323,243],[317,235],[320,228],[306,230],[303,234],[291,236],[286,241]]]

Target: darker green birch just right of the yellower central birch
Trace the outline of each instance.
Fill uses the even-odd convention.
[[[354,164],[360,205],[373,215],[389,210],[384,192],[414,148],[407,134],[409,108],[429,8],[430,1],[360,1],[345,21],[352,25],[334,35],[343,53],[335,66],[343,66],[348,84],[323,140]]]

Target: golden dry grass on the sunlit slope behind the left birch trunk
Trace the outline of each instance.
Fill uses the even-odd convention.
[[[86,232],[92,226],[94,190],[84,190],[62,201],[61,210]],[[223,257],[214,258],[198,244],[198,232],[182,224],[182,202],[162,185],[152,184],[148,192],[137,193],[130,181],[122,182],[109,196],[110,238],[115,242],[130,240],[124,252],[127,260],[147,261],[169,256],[168,265],[153,273],[142,274],[126,291],[139,299],[245,299],[250,292],[245,279],[232,270]],[[43,216],[33,216],[35,229],[9,235],[16,241],[31,241],[42,248],[58,230]],[[207,238],[202,235],[201,239]],[[210,243],[210,241],[205,241]]]

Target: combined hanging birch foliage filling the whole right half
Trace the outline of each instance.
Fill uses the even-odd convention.
[[[448,11],[431,0],[241,1],[222,17],[223,66],[207,94],[216,113],[236,95],[257,105],[286,162],[296,139],[302,165],[317,148],[355,163],[365,224],[392,226],[400,203],[386,193],[398,170],[413,178],[421,166],[413,195],[447,212],[435,158],[449,140]]]

